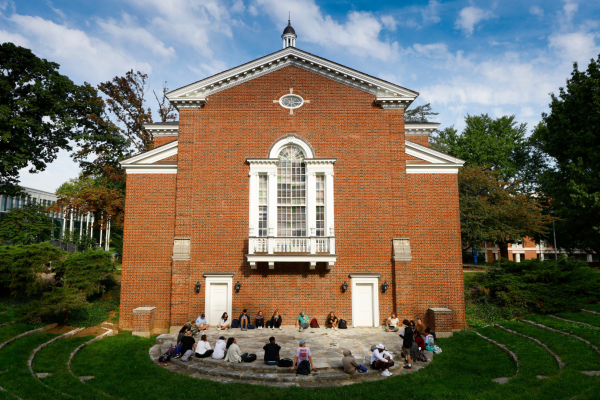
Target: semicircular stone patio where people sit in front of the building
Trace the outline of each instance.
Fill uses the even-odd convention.
[[[192,357],[190,362],[172,359],[165,368],[173,372],[183,373],[196,378],[217,380],[220,382],[245,382],[270,386],[335,386],[346,385],[366,380],[384,379],[380,371],[370,368],[371,346],[383,343],[386,350],[394,355],[396,365],[391,369],[395,375],[405,374],[425,367],[433,359],[432,352],[426,352],[429,362],[413,363],[412,370],[405,370],[405,365],[400,357],[402,341],[396,333],[386,333],[381,328],[349,328],[333,331],[325,328],[311,328],[298,332],[292,326],[284,326],[282,331],[271,329],[253,329],[241,331],[233,329],[206,331],[208,341],[212,348],[219,336],[225,339],[233,336],[237,339],[242,352],[254,353],[257,360],[252,363],[233,364],[212,358],[199,359]],[[263,346],[268,343],[270,336],[274,336],[281,346],[281,358],[294,359],[300,340],[305,340],[311,349],[316,373],[310,376],[297,376],[289,368],[279,368],[264,364]],[[158,364],[158,357],[173,346],[177,338],[176,333],[163,334],[157,337],[156,345],[150,350],[150,357]],[[199,339],[199,336],[196,337]],[[359,364],[369,368],[366,374],[348,375],[342,369],[342,352],[350,349]]]

